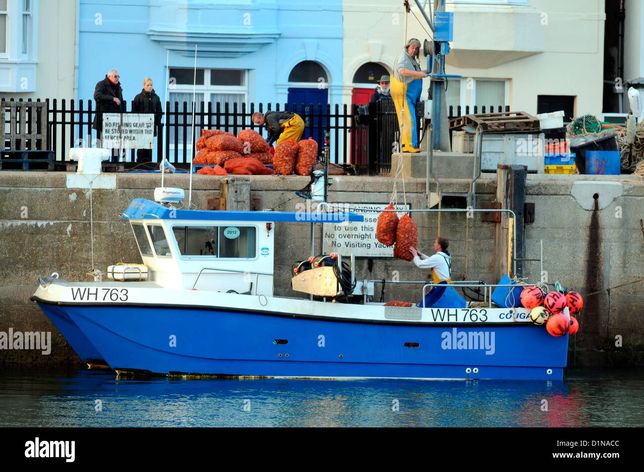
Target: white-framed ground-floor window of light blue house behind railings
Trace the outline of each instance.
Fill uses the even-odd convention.
[[[168,91],[168,100],[170,102],[169,113],[175,111],[184,111],[185,109],[191,115],[193,103],[193,82],[194,82],[194,101],[196,102],[194,113],[201,111],[201,102],[204,102],[204,110],[208,109],[208,102],[213,104],[213,111],[216,111],[217,103],[220,104],[220,111],[223,113],[226,104],[230,113],[237,105],[238,113],[242,111],[242,104],[248,100],[248,79],[247,71],[240,69],[197,69],[196,73],[193,68],[173,68],[169,70],[170,90]],[[175,133],[172,126],[175,124],[175,117],[170,114],[169,122],[171,131],[168,139],[171,147],[184,146],[184,134],[178,133],[175,139]],[[242,126],[243,118],[237,118],[237,125]],[[179,123],[182,123],[179,118]],[[223,124],[223,120],[221,121]],[[227,124],[231,126],[234,123],[234,117],[227,118]],[[192,116],[187,117],[187,126],[192,125]],[[200,130],[195,130],[195,140],[200,136]],[[188,129],[188,135],[190,129]],[[189,138],[188,138],[189,142]]]

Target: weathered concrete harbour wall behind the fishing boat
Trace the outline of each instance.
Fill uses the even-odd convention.
[[[91,192],[79,188],[81,185],[74,186],[78,181],[70,176],[74,175],[0,173],[0,332],[8,332],[9,328],[14,332],[52,332],[51,354],[0,350],[0,364],[80,366],[79,358],[56,328],[29,301],[37,279],[58,272],[62,279],[89,280],[92,267],[104,271],[114,263],[140,262],[129,223],[120,220],[118,214],[133,198],[151,199],[153,189],[160,185],[159,176],[104,175],[104,186],[110,188]],[[538,258],[539,241],[543,240],[545,277],[551,287],[559,280],[582,294],[600,292],[584,297],[585,308],[578,317],[580,332],[570,342],[569,366],[642,366],[644,183],[618,182],[611,176],[580,180],[587,177],[590,176],[528,176],[526,202],[535,203],[535,221],[526,224],[524,257]],[[293,192],[308,183],[308,177],[299,176],[250,179],[251,198],[260,200],[260,209],[281,211],[296,211],[296,203],[302,200],[293,198]],[[198,209],[206,208],[207,199],[222,196],[222,180],[219,176],[195,176],[193,202]],[[187,176],[169,175],[166,186],[187,189]],[[388,177],[334,176],[329,201],[388,203],[392,186],[393,179]],[[466,193],[467,189],[466,180],[441,182],[444,194]],[[424,180],[406,179],[405,190],[406,202],[413,209],[426,206]],[[402,203],[400,182],[398,192],[398,202]],[[477,207],[494,200],[496,193],[496,175],[484,174],[477,184]],[[458,203],[459,199],[444,199],[443,207],[450,202]],[[480,216],[475,215],[470,220],[465,214],[441,216],[441,234],[453,240],[450,252],[459,256],[453,260],[453,278],[497,283],[495,223],[481,222]],[[419,247],[431,254],[437,214],[414,214],[413,220],[419,227]],[[308,231],[308,224],[276,225],[274,285],[278,295],[303,295],[290,289],[290,269],[294,261],[309,255]],[[316,252],[320,231],[316,223]],[[343,251],[343,255],[349,254]],[[391,280],[395,271],[401,281],[423,281],[428,276],[401,260],[359,259],[356,265],[358,279]],[[540,274],[538,262],[526,262],[524,276],[535,282],[544,274]],[[421,287],[422,284],[412,288],[386,284],[384,301],[418,301]],[[610,292],[606,288],[611,288]],[[381,283],[376,283],[375,300],[380,297]]]

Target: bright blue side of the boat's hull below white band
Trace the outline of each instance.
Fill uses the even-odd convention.
[[[526,323],[365,322],[189,307],[61,309],[120,372],[561,380],[567,359],[568,335],[553,337]]]

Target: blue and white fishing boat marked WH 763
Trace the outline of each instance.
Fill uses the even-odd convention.
[[[426,299],[419,291],[426,305],[384,306],[370,301],[369,281],[355,281],[353,258],[335,255],[294,264],[293,288],[308,298],[275,296],[275,225],[320,217],[136,199],[121,218],[144,265],[110,267],[106,281],[41,278],[32,300],[84,361],[118,373],[562,379],[568,335],[533,325],[527,308],[450,305],[440,287]]]

